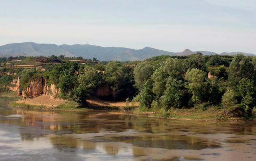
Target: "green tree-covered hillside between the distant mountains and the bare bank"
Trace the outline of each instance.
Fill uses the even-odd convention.
[[[47,64],[45,71],[1,71],[2,88],[17,77],[22,88],[43,77],[60,89],[58,97],[78,103],[98,97],[138,101],[143,111],[213,107],[223,108],[226,115],[234,117],[256,116],[256,58],[242,54],[157,56],[142,62],[66,62]]]

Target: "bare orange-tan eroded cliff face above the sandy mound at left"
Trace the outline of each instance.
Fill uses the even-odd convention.
[[[22,97],[26,99],[27,97],[35,97],[42,94],[48,95],[58,95],[60,90],[56,87],[55,84],[48,85],[46,78],[38,77],[33,81],[30,81],[28,87],[22,90]],[[20,90],[20,78],[16,78],[12,81],[12,85],[9,86],[11,91]]]

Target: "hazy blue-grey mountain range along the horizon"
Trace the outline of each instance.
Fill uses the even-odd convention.
[[[101,47],[94,45],[56,45],[56,44],[36,44],[34,42],[23,42],[6,44],[0,46],[0,57],[10,57],[10,56],[59,56],[64,55],[66,57],[79,57],[83,58],[97,58],[98,60],[119,60],[119,61],[134,61],[134,60],[144,60],[146,58],[151,58],[160,55],[171,55],[171,56],[187,56],[200,52],[203,55],[215,55],[215,52],[208,51],[195,51],[192,52],[189,49],[183,52],[167,52],[164,50],[158,50],[150,47],[145,47],[143,49],[135,50],[130,48],[120,48],[120,47]],[[219,55],[236,55],[242,53],[246,56],[256,56],[250,53],[244,52],[223,52]]]

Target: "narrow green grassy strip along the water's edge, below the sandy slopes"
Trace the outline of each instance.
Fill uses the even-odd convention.
[[[19,98],[14,92],[1,92],[0,96]],[[112,106],[92,106],[82,107],[74,101],[65,100],[63,104],[55,107],[45,106],[42,104],[24,103],[21,101],[14,101],[8,104],[10,107],[18,107],[22,109],[39,109],[48,111],[88,111],[88,110],[112,110],[117,111],[120,114],[125,115],[138,115],[143,117],[160,118],[160,119],[174,119],[182,121],[256,121],[255,119],[243,119],[240,117],[225,117],[222,119],[220,113],[223,109],[216,109],[214,107],[202,110],[202,109],[170,109],[168,115],[161,115],[161,111],[142,111],[138,107],[131,109],[131,107],[112,107]]]

